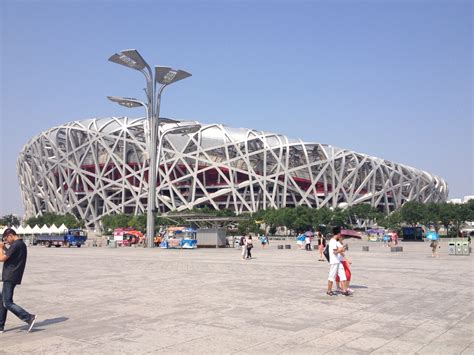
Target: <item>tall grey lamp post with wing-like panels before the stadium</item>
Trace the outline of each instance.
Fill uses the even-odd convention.
[[[184,70],[172,69],[170,67],[155,66],[154,75],[143,57],[135,49],[127,49],[115,53],[109,58],[109,61],[123,65],[128,68],[138,70],[145,76],[146,80],[146,102],[134,98],[109,97],[109,100],[117,102],[122,106],[129,108],[143,106],[147,114],[147,122],[149,128],[148,139],[148,204],[147,204],[147,223],[146,236],[149,248],[153,248],[153,239],[155,236],[155,212],[156,212],[156,175],[157,175],[157,143],[158,130],[160,124],[160,103],[161,94],[166,86],[179,80],[186,79],[191,76]],[[160,84],[157,90],[157,84]]]

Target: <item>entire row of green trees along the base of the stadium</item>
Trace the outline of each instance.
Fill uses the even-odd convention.
[[[235,213],[231,210],[212,210],[200,208],[187,211],[187,213],[209,214],[216,217],[232,217]],[[166,216],[156,218],[155,225],[184,225],[183,213],[171,212]],[[442,203],[420,203],[410,201],[400,209],[386,215],[383,212],[367,205],[359,204],[345,209],[335,208],[309,208],[305,206],[295,208],[280,208],[260,210],[255,213],[243,214],[247,220],[236,225],[239,234],[246,233],[268,233],[274,235],[279,228],[286,228],[290,234],[298,234],[308,229],[317,230],[323,226],[341,226],[350,229],[364,229],[370,226],[380,226],[388,229],[398,229],[401,226],[422,225],[426,228],[434,228],[437,232],[444,227],[448,234],[454,235],[459,232],[467,221],[474,221],[474,200],[464,204]],[[61,224],[68,228],[83,228],[85,223],[78,220],[72,214],[45,213],[38,217],[29,218],[26,223],[30,226],[43,224],[56,226]],[[20,221],[13,215],[0,218],[0,225],[19,225]],[[102,231],[111,233],[115,228],[132,227],[144,232],[146,230],[146,214],[106,215],[101,220]],[[265,229],[262,227],[265,226]]]

